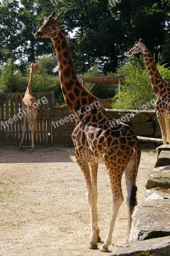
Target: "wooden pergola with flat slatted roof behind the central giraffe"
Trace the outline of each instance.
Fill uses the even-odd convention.
[[[120,85],[124,81],[124,76],[101,76],[101,77],[87,77],[81,78],[82,85],[84,83],[94,83],[89,92],[96,86],[96,84],[118,84],[118,91],[120,92]]]

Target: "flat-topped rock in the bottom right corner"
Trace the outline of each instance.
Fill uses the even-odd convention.
[[[124,246],[117,252],[112,252],[109,256],[133,256],[134,253],[150,252],[159,256],[170,256],[170,236],[137,241]]]

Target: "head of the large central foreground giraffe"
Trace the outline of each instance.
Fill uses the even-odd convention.
[[[37,30],[34,35],[35,38],[56,38],[61,30],[67,28],[66,25],[60,25],[61,15],[62,14],[59,13],[58,16],[55,17],[55,12],[52,12],[49,17],[44,17],[43,26],[41,26],[40,29]]]

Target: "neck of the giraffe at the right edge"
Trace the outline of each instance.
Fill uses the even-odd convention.
[[[156,63],[153,59],[153,56],[152,56],[152,53],[150,52],[149,49],[145,49],[145,51],[143,52],[143,55],[144,55],[144,58],[145,58],[145,61],[146,61],[146,64],[147,64],[147,70],[148,70],[148,73],[149,73],[149,77],[150,77],[150,83],[152,85],[152,88],[153,88],[153,91],[156,95],[156,97],[160,96],[159,95],[159,92],[160,92],[160,89],[158,87],[158,85],[160,83],[166,83],[166,81],[164,81],[164,79],[161,77],[157,67],[156,67]]]

